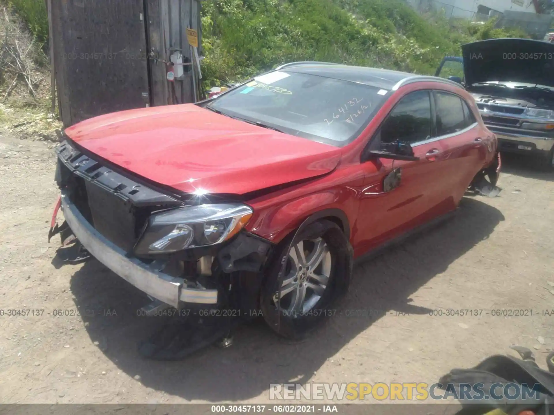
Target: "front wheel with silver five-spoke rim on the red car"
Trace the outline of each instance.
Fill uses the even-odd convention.
[[[304,248],[305,260],[300,247]],[[285,338],[300,339],[325,317],[336,313],[330,307],[346,293],[350,284],[352,247],[334,222],[319,220],[300,229],[297,235],[285,238],[275,252],[261,288],[261,312],[276,333]],[[285,272],[281,277],[281,287],[284,288],[278,299],[278,280],[283,263]]]

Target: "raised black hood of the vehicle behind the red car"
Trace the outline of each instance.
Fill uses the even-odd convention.
[[[465,85],[511,81],[554,86],[554,44],[531,39],[490,39],[461,46]]]

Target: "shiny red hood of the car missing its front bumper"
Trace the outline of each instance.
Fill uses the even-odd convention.
[[[65,130],[81,147],[186,193],[245,194],[331,172],[340,148],[193,104],[121,111]]]

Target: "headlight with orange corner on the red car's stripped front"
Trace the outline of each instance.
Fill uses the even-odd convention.
[[[216,245],[243,229],[252,213],[246,205],[216,204],[180,207],[152,215],[135,253],[171,253]]]

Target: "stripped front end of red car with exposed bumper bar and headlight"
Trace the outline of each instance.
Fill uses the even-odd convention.
[[[49,240],[60,234],[63,244],[82,245],[83,256],[90,253],[145,292],[153,302],[143,314],[175,309],[163,314],[178,317],[181,329],[175,335],[187,332],[184,320],[196,327],[196,336],[203,333],[188,348],[181,345],[169,355],[167,342],[159,344],[168,339],[167,332],[158,334],[143,345],[144,355],[171,359],[183,350],[188,354],[207,340],[220,338],[232,321],[256,315],[260,272],[272,244],[243,229],[252,215],[249,206],[195,204],[171,190],[123,175],[69,141],[56,152],[61,196]],[[56,223],[59,209],[65,217],[61,225]],[[207,326],[198,327],[198,321],[205,323],[211,316],[225,318],[215,319],[204,333]],[[195,338],[189,336],[187,341]],[[175,339],[169,343],[175,347]]]

